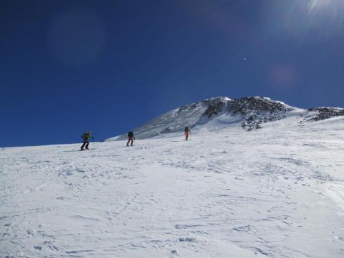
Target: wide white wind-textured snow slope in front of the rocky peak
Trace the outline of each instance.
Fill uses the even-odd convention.
[[[344,257],[344,119],[0,149],[0,257]]]

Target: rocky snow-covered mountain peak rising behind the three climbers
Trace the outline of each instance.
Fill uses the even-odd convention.
[[[344,116],[344,109],[316,107],[300,109],[266,97],[245,97],[232,100],[228,97],[206,99],[185,105],[154,118],[134,130],[137,139],[178,133],[189,126],[193,131],[213,130],[237,126],[246,131],[261,129],[264,123],[293,116],[295,122],[316,121]],[[124,140],[127,133],[107,139]]]

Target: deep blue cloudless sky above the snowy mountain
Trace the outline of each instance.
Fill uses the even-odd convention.
[[[213,96],[344,106],[344,1],[1,1],[0,146],[103,140]]]

